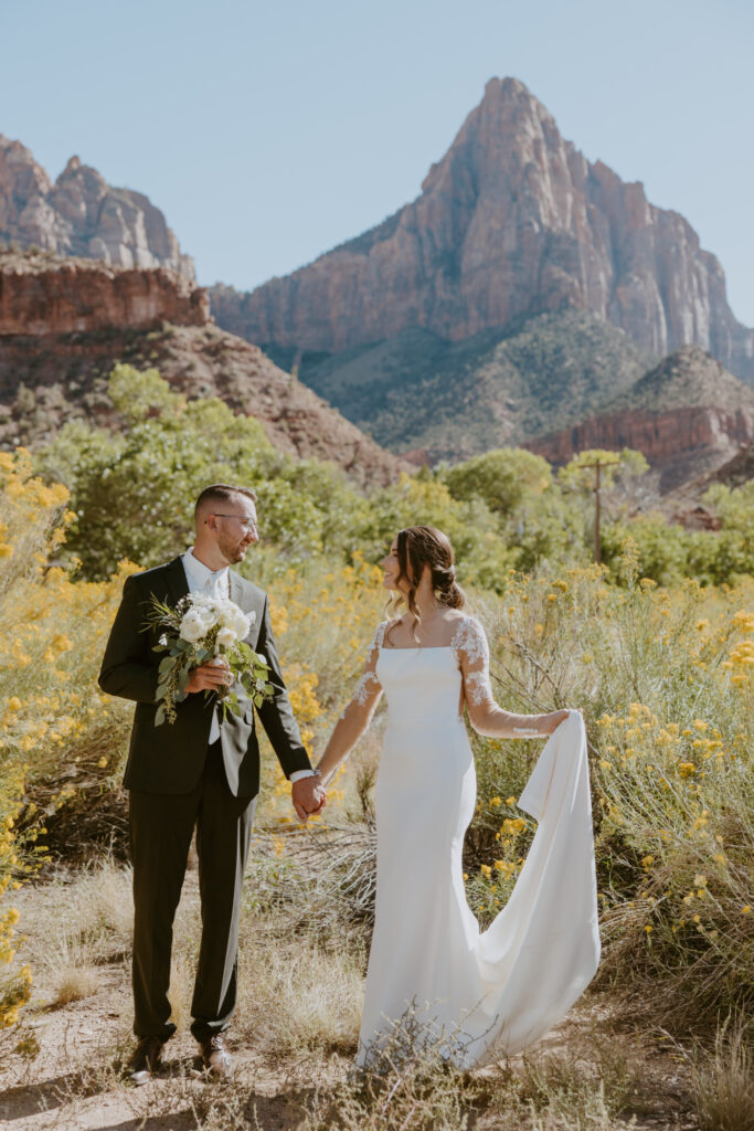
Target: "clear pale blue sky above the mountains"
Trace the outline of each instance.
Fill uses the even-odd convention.
[[[754,325],[751,0],[0,0],[0,132],[251,288],[414,199],[493,75],[682,213]]]

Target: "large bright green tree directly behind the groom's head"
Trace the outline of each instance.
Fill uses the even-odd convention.
[[[362,516],[337,468],[281,455],[258,420],[219,399],[187,402],[156,370],[129,365],[115,366],[109,396],[119,432],[72,422],[38,457],[40,469],[71,490],[67,551],[86,577],[110,575],[122,558],[153,566],[189,545],[193,501],[213,482],[258,491],[262,541],[287,563],[332,549],[349,515]]]

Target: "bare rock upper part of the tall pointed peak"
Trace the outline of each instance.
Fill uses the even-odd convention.
[[[251,294],[210,295],[218,323],[249,340],[329,353],[584,308],[655,355],[696,343],[754,381],[754,331],[690,224],[588,162],[512,78],[487,84],[413,204]]]

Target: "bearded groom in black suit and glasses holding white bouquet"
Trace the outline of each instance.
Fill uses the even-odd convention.
[[[155,726],[159,629],[146,629],[151,597],[174,606],[189,592],[229,597],[250,615],[246,642],[262,653],[274,687],[259,717],[283,770],[293,783],[294,808],[305,821],[324,804],[293,717],[272,639],[269,603],[262,589],[229,567],[258,542],[257,497],[245,487],[216,483],[196,506],[196,539],[166,566],[129,577],[110,633],[99,687],[136,701],[125,767],[133,861],[133,1031],[129,1062],[135,1083],[145,1083],[175,1031],[168,1020],[173,920],[181,896],[191,836],[197,830],[201,947],[194,983],[191,1031],[206,1069],[227,1076],[232,1063],[224,1031],[236,1001],[241,884],[259,792],[259,745],[254,707],[240,683],[233,685],[240,716],[217,711],[216,692],[231,683],[227,663],[193,670],[187,699],[174,723]]]

